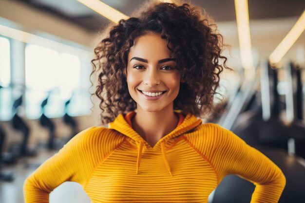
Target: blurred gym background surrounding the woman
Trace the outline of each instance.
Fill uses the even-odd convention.
[[[77,132],[100,125],[99,101],[90,97],[99,31],[143,2],[0,0],[0,203],[23,203],[25,178]],[[218,89],[224,113],[204,122],[232,130],[282,169],[280,203],[304,203],[305,0],[191,3],[215,19],[234,70]],[[250,202],[254,187],[227,176],[209,203]],[[72,182],[50,194],[50,203],[90,202]]]

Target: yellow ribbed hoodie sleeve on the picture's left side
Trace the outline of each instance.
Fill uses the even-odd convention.
[[[91,127],[75,135],[25,180],[23,184],[25,203],[48,203],[50,192],[66,181],[85,184],[95,164],[92,156],[92,153],[95,153],[94,147],[90,147],[90,140],[95,132],[98,132],[92,130],[94,128],[97,129]]]

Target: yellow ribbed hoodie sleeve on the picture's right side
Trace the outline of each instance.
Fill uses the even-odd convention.
[[[251,203],[277,203],[286,185],[281,169],[232,131],[216,126],[219,140],[212,162],[219,180],[229,174],[238,175],[255,185]]]

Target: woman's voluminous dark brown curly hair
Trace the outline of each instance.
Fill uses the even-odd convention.
[[[215,94],[220,94],[216,92],[219,75],[224,68],[232,69],[226,65],[227,57],[221,55],[223,37],[209,21],[212,18],[191,3],[153,0],[143,4],[130,18],[108,25],[103,30],[106,37],[94,50],[90,75],[97,74],[98,84],[93,94],[100,99],[102,124],[112,122],[120,113],[136,109],[123,70],[134,40],[148,33],[160,34],[167,41],[171,55],[176,58],[175,68],[185,81],[180,83],[173,101],[174,110],[200,118],[210,118],[211,112],[219,115],[224,103],[213,102]]]

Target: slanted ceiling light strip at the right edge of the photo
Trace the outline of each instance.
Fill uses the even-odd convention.
[[[269,56],[269,61],[271,64],[276,64],[280,62],[283,56],[295,43],[295,41],[300,37],[305,29],[305,11],[286,35],[286,37],[281,41],[281,43],[275,48],[272,54]]]

